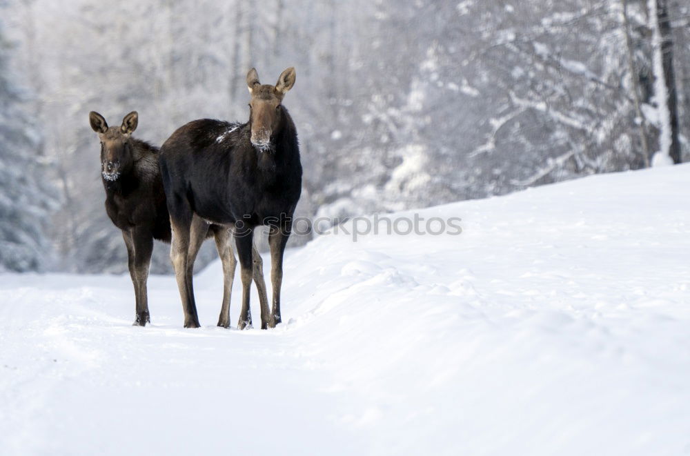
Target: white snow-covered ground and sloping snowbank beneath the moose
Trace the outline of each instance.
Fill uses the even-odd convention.
[[[689,454],[689,195],[673,166],[324,235],[268,331],[215,327],[219,264],[197,330],[172,277],[138,328],[128,276],[1,275],[0,454]]]

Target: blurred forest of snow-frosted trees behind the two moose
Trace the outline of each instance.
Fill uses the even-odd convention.
[[[124,272],[88,112],[137,110],[137,137],[160,145],[191,119],[246,121],[253,66],[298,70],[290,112],[304,217],[424,208],[690,156],[690,6],[681,0],[1,8],[6,270]],[[214,255],[206,247],[199,263]],[[169,263],[157,247],[152,272]]]

